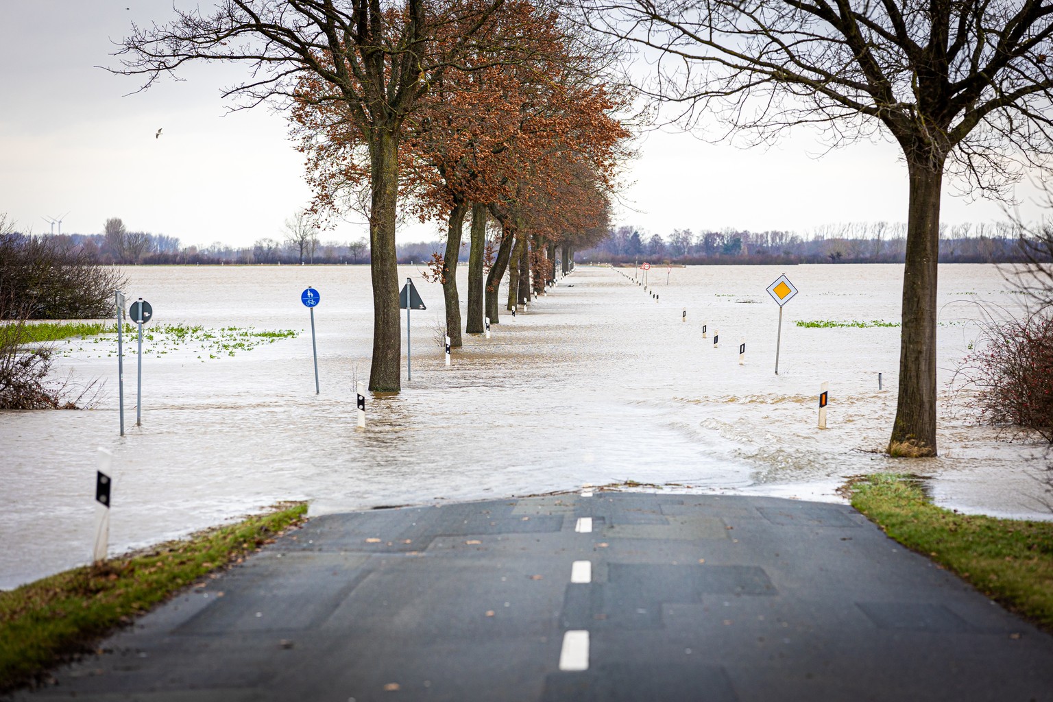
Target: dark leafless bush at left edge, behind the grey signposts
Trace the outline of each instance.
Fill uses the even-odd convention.
[[[114,313],[116,268],[95,265],[80,247],[15,232],[0,214],[2,319],[90,319]]]

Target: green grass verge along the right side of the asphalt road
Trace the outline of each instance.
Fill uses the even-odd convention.
[[[890,537],[1053,631],[1053,522],[943,509],[909,476],[868,476],[849,489],[852,506]]]

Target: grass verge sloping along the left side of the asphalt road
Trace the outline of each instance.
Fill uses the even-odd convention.
[[[212,570],[240,563],[283,529],[300,523],[306,504],[107,559],[0,591],[0,694],[39,680],[49,667]]]

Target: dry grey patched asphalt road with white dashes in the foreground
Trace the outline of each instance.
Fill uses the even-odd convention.
[[[580,495],[303,528],[17,699],[1053,700],[1053,637],[852,508]]]

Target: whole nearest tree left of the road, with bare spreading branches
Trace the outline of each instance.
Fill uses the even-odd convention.
[[[251,77],[225,93],[241,98],[241,106],[299,101],[301,108],[333,111],[334,119],[359,133],[371,197],[372,390],[401,384],[395,224],[406,120],[444,73],[464,66],[465,56],[493,54],[503,61],[502,54],[515,51],[514,28],[503,48],[475,41],[503,2],[220,0],[211,15],[176,9],[172,22],[133,27],[122,42],[123,68],[116,73],[145,77],[143,88],[187,62],[241,62]],[[329,184],[318,185],[324,201]]]

